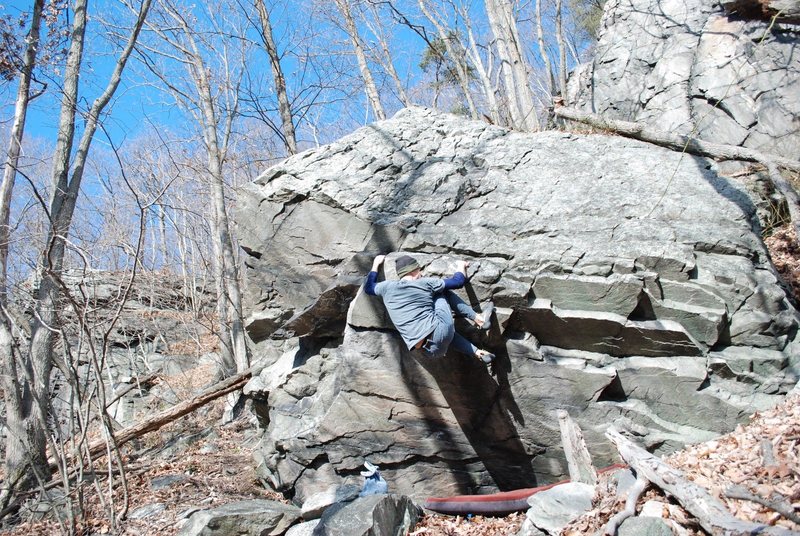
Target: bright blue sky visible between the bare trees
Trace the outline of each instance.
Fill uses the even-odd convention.
[[[246,0],[244,0],[246,1]],[[0,4],[0,14],[10,14],[17,16],[22,11],[30,9],[30,1],[12,0]],[[247,2],[249,3],[249,2]],[[340,73],[337,75],[336,84],[341,85],[340,88],[328,89],[324,95],[326,99],[332,99],[335,102],[320,107],[317,110],[319,117],[318,127],[322,127],[323,133],[330,132],[331,137],[335,138],[344,132],[339,132],[337,128],[331,129],[331,126],[336,126],[337,122],[341,123],[344,130],[352,129],[358,126],[358,123],[371,121],[372,118],[368,113],[366,100],[363,91],[357,89],[349,89],[345,85],[356,85],[359,83],[358,71],[352,55],[349,54],[349,44],[347,43],[342,32],[331,25],[329,20],[325,17],[316,17],[314,25],[308,25],[309,15],[303,9],[296,8],[295,6],[304,5],[304,0],[296,2],[283,3],[283,0],[267,1],[268,6],[277,6],[273,12],[273,24],[275,26],[275,37],[278,41],[279,49],[286,53],[283,58],[283,65],[287,82],[289,84],[290,96],[297,97],[298,87],[301,84],[306,84],[308,81],[300,82],[299,77],[303,73],[302,65],[298,62],[298,58],[302,55],[301,47],[305,46],[305,39],[313,32],[319,32],[318,36],[314,36],[314,50],[316,54],[316,61],[320,62],[325,68],[332,68],[337,63],[341,63]],[[332,2],[330,2],[332,4]],[[413,2],[409,6],[413,6]],[[527,5],[527,4],[526,4]],[[194,11],[200,17],[201,22],[203,17],[207,17],[206,9],[208,4],[199,3],[195,4]],[[530,10],[530,6],[526,9]],[[115,52],[118,48],[112,48],[104,34],[103,26],[98,20],[98,17],[107,19],[114,18],[120,13],[120,3],[117,0],[92,0],[90,1],[89,11],[90,20],[88,25],[88,35],[86,40],[86,53],[84,55],[84,66],[81,78],[81,106],[86,109],[91,101],[99,94],[101,89],[105,86],[108,75],[113,67],[115,59]],[[474,14],[474,23],[476,25],[476,32],[480,37],[480,32],[485,33],[485,14],[482,1],[475,1],[471,3],[471,12]],[[216,15],[211,8],[212,14]],[[251,13],[255,16],[255,13]],[[388,17],[386,17],[388,18]],[[130,15],[128,15],[130,20]],[[415,20],[415,23],[421,21]],[[435,36],[435,30],[431,28],[428,23],[428,35],[432,38]],[[364,39],[371,40],[371,36],[365,27],[361,27]],[[409,80],[410,86],[417,88],[419,94],[420,90],[424,89],[422,85],[423,75],[419,70],[419,61],[422,57],[424,50],[424,42],[410,29],[402,25],[390,25],[387,31],[392,34],[392,49],[394,53],[394,64],[398,69],[400,76]],[[257,42],[258,36],[251,29],[248,37]],[[528,45],[535,54],[535,47],[532,41],[533,36],[528,35]],[[321,59],[321,56],[327,51],[325,50],[326,43],[330,49],[336,51],[343,51],[344,56],[335,58],[331,55],[328,59]],[[263,82],[263,97],[267,100],[274,101],[273,90],[271,87],[271,74],[269,73],[267,56],[254,45],[251,60],[248,64],[248,70],[251,75],[261,77]],[[380,78],[381,69],[374,66],[374,74]],[[175,76],[183,76],[181,71],[176,71]],[[323,75],[319,82],[325,82]],[[36,99],[32,104],[29,111],[29,120],[27,124],[27,133],[29,136],[40,137],[52,140],[55,137],[56,125],[58,121],[58,109],[60,106],[59,96],[57,91],[58,76],[54,76],[49,80],[49,91],[44,96]],[[312,80],[313,82],[313,80]],[[390,82],[387,82],[390,85]],[[388,85],[386,88],[388,89]],[[14,91],[16,89],[16,82],[12,82],[10,86],[5,89],[3,95],[4,115],[10,117],[11,105],[13,105]],[[107,119],[104,121],[106,131],[111,136],[113,143],[117,146],[122,145],[125,141],[135,138],[137,135],[148,130],[153,125],[159,129],[165,130],[181,130],[187,123],[186,117],[183,112],[176,110],[174,106],[167,104],[172,101],[171,97],[165,94],[156,87],[152,75],[147,73],[146,69],[135,60],[132,59],[126,72],[121,86],[117,90],[114,97],[112,106],[107,110],[110,112]],[[337,91],[340,90],[340,91]],[[342,100],[343,99],[343,100]],[[391,114],[393,111],[400,107],[400,103],[396,98],[392,97],[391,91],[382,92],[382,99],[387,108],[387,112]],[[422,104],[429,104],[428,102],[421,102]],[[320,130],[318,129],[318,132]],[[308,142],[310,142],[311,135],[303,130],[301,125],[300,134]],[[330,139],[323,139],[323,142],[330,141]],[[96,143],[107,143],[105,134],[98,132]]]

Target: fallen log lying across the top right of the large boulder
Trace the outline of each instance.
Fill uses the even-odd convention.
[[[649,128],[642,123],[609,119],[598,114],[560,106],[559,102],[555,102],[553,111],[562,119],[577,121],[596,128],[609,130],[628,138],[645,141],[668,149],[699,156],[708,156],[716,160],[740,160],[744,162],[757,162],[763,165],[767,168],[770,180],[775,185],[775,188],[786,198],[792,225],[794,226],[797,236],[800,237],[800,196],[798,196],[789,181],[783,178],[778,169],[784,168],[800,173],[800,161],[774,154],[762,153],[747,147],[711,143],[691,136],[663,132]]]

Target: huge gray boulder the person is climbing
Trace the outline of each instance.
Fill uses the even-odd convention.
[[[237,218],[248,329],[303,338],[247,390],[267,402],[259,474],[298,504],[360,484],[364,459],[415,499],[533,487],[566,472],[557,409],[603,466],[611,423],[663,453],[775,403],[797,382],[798,314],[755,203],[715,169],[412,108],[267,171]],[[408,352],[357,292],[399,250],[434,276],[470,261],[462,295],[498,322],[456,326],[492,371]]]

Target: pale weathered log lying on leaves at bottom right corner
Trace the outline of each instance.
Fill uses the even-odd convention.
[[[653,485],[677,500],[691,513],[706,532],[714,536],[791,536],[797,533],[782,527],[752,523],[737,519],[722,502],[715,499],[705,488],[688,480],[685,475],[656,458],[642,447],[635,445],[613,428],[606,432],[623,460]]]

